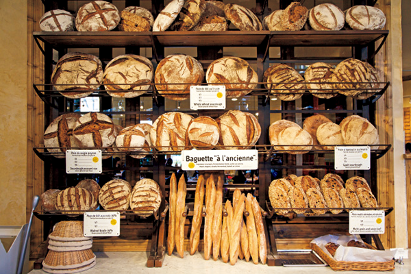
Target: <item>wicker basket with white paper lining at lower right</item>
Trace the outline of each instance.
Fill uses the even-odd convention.
[[[367,247],[371,247],[367,245]],[[323,251],[318,245],[311,244],[311,249],[314,250],[334,271],[392,271],[395,269],[395,260],[388,262],[345,262],[337,261],[331,258],[327,253]]]

